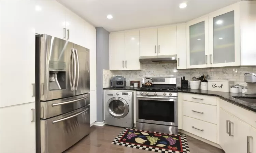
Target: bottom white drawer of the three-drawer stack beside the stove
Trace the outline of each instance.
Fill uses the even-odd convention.
[[[183,116],[183,130],[217,143],[217,125],[215,124]]]

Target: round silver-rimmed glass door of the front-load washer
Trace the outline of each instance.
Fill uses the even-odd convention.
[[[129,112],[128,103],[119,97],[111,98],[106,106],[109,115],[117,119],[124,118]]]

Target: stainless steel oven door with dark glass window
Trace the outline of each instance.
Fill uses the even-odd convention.
[[[178,126],[177,97],[137,95],[136,121]]]

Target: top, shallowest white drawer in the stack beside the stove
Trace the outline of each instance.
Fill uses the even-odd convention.
[[[183,94],[183,100],[193,101],[209,105],[217,105],[217,97],[198,94]]]

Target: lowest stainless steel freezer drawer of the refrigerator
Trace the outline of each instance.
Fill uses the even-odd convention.
[[[90,105],[40,123],[41,153],[61,153],[90,133]]]

